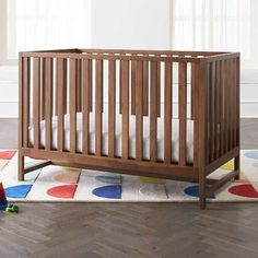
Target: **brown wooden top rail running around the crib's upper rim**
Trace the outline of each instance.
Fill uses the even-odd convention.
[[[75,58],[97,60],[174,61],[200,62],[219,61],[239,57],[238,52],[223,51],[177,51],[177,50],[130,50],[130,49],[60,49],[22,51],[22,57]]]

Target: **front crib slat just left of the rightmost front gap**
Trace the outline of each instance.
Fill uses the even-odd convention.
[[[187,63],[179,62],[179,165],[186,164]]]

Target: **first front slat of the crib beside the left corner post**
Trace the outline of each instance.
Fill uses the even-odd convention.
[[[33,125],[34,125],[34,148],[39,148],[39,93],[40,93],[40,58],[33,59]]]

